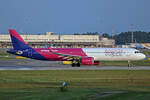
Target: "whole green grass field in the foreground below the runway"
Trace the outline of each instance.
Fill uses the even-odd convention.
[[[60,92],[63,81],[68,84],[67,92]],[[115,93],[116,91],[121,93]],[[0,71],[0,100],[148,100],[149,98],[148,70]]]

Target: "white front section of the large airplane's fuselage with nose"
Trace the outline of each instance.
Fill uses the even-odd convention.
[[[82,48],[88,57],[95,61],[143,60],[146,56],[133,48]]]

